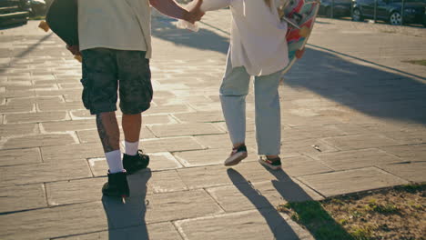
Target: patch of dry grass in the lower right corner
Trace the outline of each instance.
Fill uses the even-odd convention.
[[[279,205],[316,239],[425,240],[426,185]]]

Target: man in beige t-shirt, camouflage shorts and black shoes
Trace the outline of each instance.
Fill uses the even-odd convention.
[[[150,5],[165,15],[194,23],[204,15],[199,10],[201,1],[187,11],[173,0],[78,0],[79,45],[67,48],[83,56],[83,103],[96,115],[109,167],[104,195],[128,196],[126,175],[149,163],[138,145],[141,113],[149,108],[153,95]],[[118,95],[125,135],[123,158],[115,113]]]

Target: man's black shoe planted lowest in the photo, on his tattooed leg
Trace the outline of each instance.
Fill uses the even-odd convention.
[[[102,193],[108,196],[127,197],[130,195],[127,184],[127,173],[110,174],[108,171],[108,182],[102,187]]]

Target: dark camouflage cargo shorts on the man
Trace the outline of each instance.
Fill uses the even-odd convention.
[[[146,111],[152,100],[151,72],[146,52],[109,48],[82,51],[82,100],[90,114],[117,110],[117,91],[123,114]]]

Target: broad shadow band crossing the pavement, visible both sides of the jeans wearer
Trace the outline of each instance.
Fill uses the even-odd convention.
[[[177,29],[172,24],[174,21],[156,18],[152,34],[176,45],[227,53],[228,37],[203,28],[198,33],[187,32]],[[345,115],[337,107],[345,105],[365,115],[426,124],[426,84],[418,80],[426,78],[421,75],[308,45],[306,54],[284,75],[284,79],[285,85],[305,88],[336,102],[336,105],[312,107],[310,115],[332,113],[350,118],[351,115]],[[281,96],[286,98],[286,93]],[[303,108],[309,108],[312,102],[319,100],[287,99],[298,100]]]

